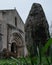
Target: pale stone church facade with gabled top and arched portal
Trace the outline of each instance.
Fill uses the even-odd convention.
[[[25,56],[24,23],[16,9],[0,10],[0,51],[4,48]]]

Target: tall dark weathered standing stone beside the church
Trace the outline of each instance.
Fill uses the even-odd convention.
[[[26,20],[25,37],[27,48],[30,52],[32,52],[33,55],[36,55],[35,52],[37,52],[37,45],[44,46],[46,41],[50,38],[49,25],[46,20],[46,16],[42,6],[38,3],[34,3],[32,5]]]

